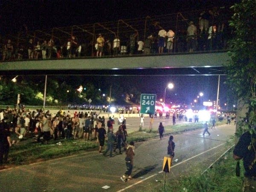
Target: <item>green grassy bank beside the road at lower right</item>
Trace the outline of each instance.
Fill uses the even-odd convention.
[[[236,161],[233,148],[221,157],[211,169],[194,169],[190,176],[183,175],[169,181],[165,192],[241,192],[244,168],[240,162],[240,177],[236,177]]]

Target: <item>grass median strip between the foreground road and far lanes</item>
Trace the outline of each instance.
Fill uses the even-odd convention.
[[[164,135],[177,134],[184,131],[191,131],[200,128],[203,128],[202,123],[169,125],[165,127]],[[155,137],[159,137],[157,128],[153,128],[151,132],[148,130],[139,131],[138,128],[138,131],[129,133],[127,140],[128,142],[131,140],[140,142]],[[41,143],[35,143],[34,140],[29,139],[20,141],[20,143],[17,143],[10,148],[9,163],[6,164],[6,166],[29,164],[57,157],[65,157],[67,155],[77,154],[79,151],[95,150],[97,147],[98,144],[95,140],[51,140],[47,145],[45,145]]]

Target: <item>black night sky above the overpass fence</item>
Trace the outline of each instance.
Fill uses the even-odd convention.
[[[164,15],[238,0],[1,0],[1,33]]]

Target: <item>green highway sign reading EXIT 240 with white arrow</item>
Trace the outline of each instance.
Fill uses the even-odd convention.
[[[140,95],[140,113],[154,114],[156,105],[156,94],[141,94]]]

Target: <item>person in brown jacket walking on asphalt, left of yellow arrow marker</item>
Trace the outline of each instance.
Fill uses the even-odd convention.
[[[134,142],[131,141],[127,147],[127,150],[125,151],[126,157],[125,157],[125,163],[126,163],[126,167],[127,170],[125,172],[125,175],[128,175],[128,177],[126,177],[125,175],[123,175],[122,177],[120,177],[120,179],[123,182],[126,182],[128,180],[131,180],[131,172],[132,172],[132,168],[133,168],[133,160],[134,160]]]

